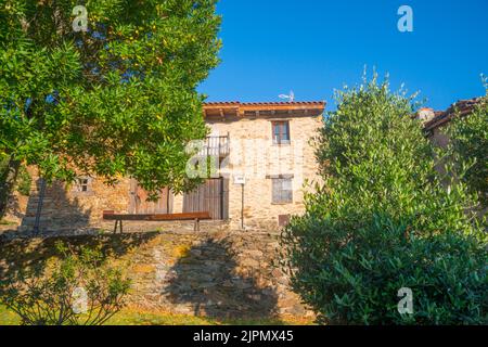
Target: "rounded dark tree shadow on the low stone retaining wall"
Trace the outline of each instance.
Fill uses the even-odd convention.
[[[237,264],[229,241],[207,240],[168,271],[163,294],[171,304],[190,305],[196,317],[275,319],[278,294],[258,285],[253,272]]]

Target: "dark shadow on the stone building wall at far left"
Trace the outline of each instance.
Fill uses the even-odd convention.
[[[40,180],[37,180],[37,189],[31,192],[25,216],[22,219],[22,231],[34,230],[40,200]],[[78,197],[68,198],[65,183],[55,181],[46,187],[39,223],[42,233],[49,233],[53,230],[85,229],[90,224],[90,215],[91,209],[84,209]]]

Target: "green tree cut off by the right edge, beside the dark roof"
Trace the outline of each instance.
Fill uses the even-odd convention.
[[[454,117],[449,134],[454,160],[467,164],[463,180],[476,194],[483,208],[488,207],[488,82],[486,95],[479,99],[473,113]]]

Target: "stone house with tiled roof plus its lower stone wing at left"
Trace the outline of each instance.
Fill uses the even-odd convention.
[[[134,180],[123,178],[115,187],[106,187],[97,178],[80,177],[69,187],[47,188],[41,229],[98,228],[103,224],[103,210],[114,210],[209,211],[231,230],[243,226],[278,230],[291,215],[304,213],[305,183],[318,179],[310,140],[322,125],[324,107],[324,102],[205,104],[211,133],[198,155],[213,156],[219,170],[195,192],[175,196],[167,189],[157,203],[151,203]],[[34,226],[39,205],[36,184],[29,197],[16,194],[11,203],[7,219],[18,221],[21,229]]]

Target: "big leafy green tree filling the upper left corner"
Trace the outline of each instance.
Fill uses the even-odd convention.
[[[76,5],[88,11],[78,28]],[[189,141],[206,128],[197,85],[218,64],[216,0],[3,0],[0,215],[21,164],[187,190]],[[75,21],[76,20],[76,21]],[[75,23],[75,25],[74,25]]]

